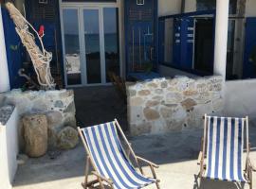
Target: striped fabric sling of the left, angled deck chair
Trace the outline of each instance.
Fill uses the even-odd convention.
[[[82,133],[99,173],[113,180],[114,188],[141,188],[155,182],[138,174],[128,161],[114,122],[82,129]]]

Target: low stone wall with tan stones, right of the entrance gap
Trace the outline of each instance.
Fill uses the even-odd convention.
[[[202,128],[205,113],[223,111],[222,81],[222,77],[174,77],[127,85],[131,134]]]

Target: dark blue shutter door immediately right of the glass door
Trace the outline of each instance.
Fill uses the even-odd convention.
[[[155,67],[157,1],[125,0],[126,64],[128,73]]]

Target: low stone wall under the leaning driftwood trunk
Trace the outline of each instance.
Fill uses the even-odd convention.
[[[20,119],[29,114],[46,115],[48,127],[48,148],[70,148],[68,137],[75,136],[76,109],[73,91],[27,91],[12,90],[0,94],[2,105],[15,105]],[[24,133],[22,121],[19,123],[19,144],[24,147]],[[75,130],[75,131],[74,131]],[[71,133],[71,134],[70,134]],[[65,138],[64,135],[65,134]]]

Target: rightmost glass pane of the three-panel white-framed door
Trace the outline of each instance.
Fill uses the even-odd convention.
[[[106,81],[110,72],[119,76],[119,9],[104,8],[104,42]]]

